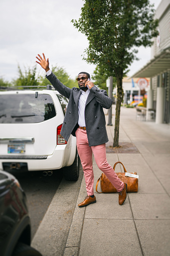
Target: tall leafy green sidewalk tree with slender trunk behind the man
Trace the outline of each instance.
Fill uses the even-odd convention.
[[[157,36],[158,21],[149,0],[85,0],[78,21],[73,25],[89,41],[83,57],[116,78],[117,101],[113,146],[118,146],[122,78],[136,58],[137,47],[151,46]]]

